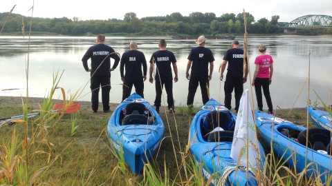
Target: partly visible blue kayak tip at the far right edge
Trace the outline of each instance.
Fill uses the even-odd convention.
[[[329,112],[309,107],[308,113],[311,121],[313,121],[313,124],[315,124],[317,127],[331,130],[331,115]]]

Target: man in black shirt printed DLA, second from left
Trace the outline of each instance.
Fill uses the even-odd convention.
[[[137,50],[135,41],[130,42],[129,48],[129,51],[122,54],[120,61],[120,74],[123,81],[122,101],[130,96],[133,85],[136,93],[144,98],[144,81],[147,80],[147,60],[145,55]],[[125,74],[124,68],[126,70]]]

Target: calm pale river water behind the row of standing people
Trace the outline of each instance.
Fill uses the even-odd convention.
[[[196,47],[194,40],[173,40],[167,37],[107,37],[105,43],[122,54],[129,50],[130,41],[136,41],[138,50],[144,52],[149,61],[151,54],[158,50],[159,39],[166,39],[167,49],[176,55],[179,81],[174,83],[174,99],[176,105],[185,105],[189,82],[185,79],[185,68],[190,49]],[[237,39],[243,45],[244,38],[237,37]],[[216,60],[210,81],[210,96],[221,103],[224,98],[223,81],[219,81],[218,70],[223,54],[230,48],[230,43],[230,40],[208,40],[205,45],[212,50]],[[324,101],[328,101],[332,90],[332,37],[249,37],[251,79],[260,43],[268,46],[267,53],[271,54],[275,61],[273,81],[270,85],[274,107],[277,105],[282,108],[304,107],[308,94],[310,94],[312,102],[317,100],[313,90]],[[58,86],[66,90],[67,96],[78,92],[80,94],[78,101],[90,101],[90,72],[85,72],[81,59],[93,44],[95,44],[95,37],[31,37],[30,47],[28,47],[28,38],[0,37],[0,96],[26,96],[26,67],[28,64],[29,96],[47,96],[53,84],[53,74],[59,71],[59,74],[63,72],[63,75]],[[306,81],[309,76],[309,61],[310,91],[308,81]],[[113,60],[111,63],[113,65]],[[110,101],[112,103],[121,101],[121,83],[120,65],[118,65],[118,68],[111,72]],[[244,87],[245,89],[251,88],[249,80]],[[253,87],[252,92],[256,105]],[[55,94],[55,98],[58,97],[62,98],[60,91]],[[166,94],[164,97],[166,98]],[[153,104],[154,98],[154,84],[147,80],[145,81],[145,99]],[[234,107],[234,96],[232,102],[232,107]],[[167,104],[166,100],[165,103]],[[200,88],[196,92],[194,103],[197,106],[203,104]],[[265,100],[264,109],[267,109]]]

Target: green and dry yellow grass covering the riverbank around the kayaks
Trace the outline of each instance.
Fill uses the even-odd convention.
[[[111,113],[93,114],[89,112],[90,103],[81,105],[80,112],[76,114],[44,114],[44,118],[39,116],[26,120],[27,125],[16,123],[1,127],[3,134],[0,147],[1,168],[10,172],[4,166],[4,162],[15,164],[12,166],[14,167],[12,181],[0,173],[0,183],[12,185],[28,181],[52,185],[154,185],[153,183],[205,185],[208,183],[203,179],[201,167],[196,165],[188,151],[188,130],[193,115],[189,114],[192,113],[189,111],[185,112],[187,114],[180,112],[181,109],[187,108],[176,107],[174,115],[160,114],[166,128],[160,149],[150,159],[144,174],[133,176],[129,167],[124,164],[123,158],[111,147],[106,130]],[[113,107],[116,105],[111,105],[112,110]],[[198,107],[192,109],[198,110]],[[0,118],[3,118],[20,114],[23,109],[8,103],[1,105],[0,110],[3,111]],[[29,106],[27,109],[28,112],[32,110],[39,108]],[[73,118],[75,126],[80,126],[75,129],[74,134]],[[170,130],[167,130],[168,124]],[[24,148],[26,130],[30,142],[33,142],[28,147],[28,153]],[[175,154],[173,149],[176,149]],[[267,161],[269,163],[264,169],[266,180],[270,180],[273,185],[286,183],[304,185],[301,173],[289,169],[284,161],[270,154],[268,148],[266,154],[268,160],[271,160]],[[268,184],[268,181],[265,183]]]

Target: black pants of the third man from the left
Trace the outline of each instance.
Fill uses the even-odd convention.
[[[156,83],[156,99],[154,101],[154,105],[156,107],[160,107],[161,105],[161,94],[163,93],[163,88],[165,85],[165,90],[167,93],[167,104],[168,104],[168,109],[172,108],[174,105],[174,100],[173,100],[173,81],[169,82],[161,82],[160,81],[155,81]]]

